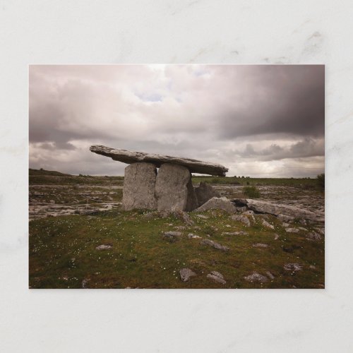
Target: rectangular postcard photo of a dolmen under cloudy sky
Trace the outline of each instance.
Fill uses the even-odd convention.
[[[325,65],[28,80],[30,289],[325,288]]]

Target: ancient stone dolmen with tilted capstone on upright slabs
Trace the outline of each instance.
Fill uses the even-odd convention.
[[[195,210],[210,198],[220,197],[220,194],[202,182],[194,189],[191,173],[224,177],[228,172],[220,164],[189,158],[132,152],[102,145],[92,145],[90,151],[129,164],[124,176],[124,210]]]

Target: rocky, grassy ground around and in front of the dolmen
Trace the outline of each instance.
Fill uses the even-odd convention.
[[[215,184],[229,199],[242,185]],[[122,211],[122,186],[30,185],[31,288],[323,288],[324,194],[258,185],[316,222],[239,210]]]

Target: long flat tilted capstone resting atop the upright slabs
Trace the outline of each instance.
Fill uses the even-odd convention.
[[[220,177],[225,177],[225,173],[228,172],[228,169],[220,164],[203,162],[201,160],[191,160],[183,157],[170,157],[153,153],[133,152],[120,150],[119,148],[109,148],[102,145],[92,145],[90,151],[97,153],[98,155],[111,157],[113,160],[127,164],[148,162],[155,164],[156,167],[161,167],[164,163],[173,163],[188,168],[191,173],[219,175]]]

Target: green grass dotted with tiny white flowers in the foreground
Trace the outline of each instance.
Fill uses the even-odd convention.
[[[323,287],[323,241],[308,241],[302,231],[287,234],[275,217],[268,219],[275,225],[272,230],[261,225],[261,217],[246,228],[220,210],[203,214],[209,218],[200,219],[191,213],[195,224],[190,227],[172,216],[153,214],[149,218],[143,212],[116,210],[95,216],[34,220],[30,222],[30,287],[80,288],[83,280],[90,288]],[[186,227],[179,241],[163,239],[163,232],[178,226]],[[244,230],[249,236],[222,234],[236,230]],[[223,252],[200,244],[201,239],[186,237],[190,232],[229,246],[230,250]],[[279,234],[279,239],[274,239],[274,233]],[[256,243],[268,244],[268,248],[253,248]],[[100,244],[110,244],[112,249],[98,251],[95,247]],[[285,252],[283,246],[294,250]],[[294,262],[303,265],[303,270],[291,273],[283,269],[285,263]],[[181,282],[181,268],[191,268],[197,276]],[[206,277],[213,270],[224,275],[226,285]],[[263,285],[246,282],[244,276],[253,271],[263,275],[270,271],[275,279]]]

